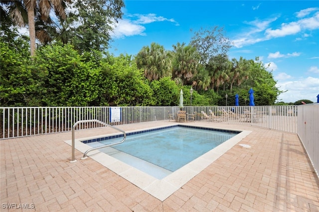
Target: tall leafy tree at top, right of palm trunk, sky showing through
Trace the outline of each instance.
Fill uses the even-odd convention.
[[[76,0],[70,14],[72,43],[81,52],[104,51],[111,40],[110,32],[122,18],[123,0]]]

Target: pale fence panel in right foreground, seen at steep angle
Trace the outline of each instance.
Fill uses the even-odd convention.
[[[298,107],[298,136],[319,177],[319,104]]]

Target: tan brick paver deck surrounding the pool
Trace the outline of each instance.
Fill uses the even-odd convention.
[[[120,126],[125,131],[168,121]],[[252,131],[164,201],[92,158],[70,163],[71,132],[0,141],[3,211],[319,211],[319,179],[296,134],[245,125],[192,125]],[[82,130],[76,138],[110,128]],[[21,204],[21,205],[20,205]],[[8,209],[11,208],[11,209]]]

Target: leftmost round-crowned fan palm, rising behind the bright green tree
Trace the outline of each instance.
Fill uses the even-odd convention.
[[[145,77],[149,80],[171,76],[171,61],[160,44],[152,43],[151,47],[144,46],[135,60],[138,68],[143,69]]]

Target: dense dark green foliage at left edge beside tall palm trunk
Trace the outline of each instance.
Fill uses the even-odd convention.
[[[9,34],[0,37],[0,105],[38,106],[40,73],[29,68],[28,38],[17,37],[16,29]]]

